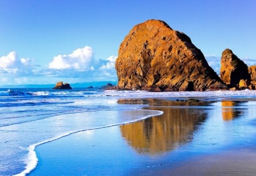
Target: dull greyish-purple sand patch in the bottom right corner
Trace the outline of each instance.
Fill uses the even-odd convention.
[[[170,164],[171,165],[171,164]],[[176,166],[163,166],[138,175],[256,175],[255,149],[237,149],[193,157]],[[171,168],[171,169],[170,169]]]

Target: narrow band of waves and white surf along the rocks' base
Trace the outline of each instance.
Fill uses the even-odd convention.
[[[166,97],[254,97],[256,91],[249,89],[243,91],[205,91],[205,92],[148,92],[148,91],[116,91],[116,90],[36,90],[25,91],[7,90],[0,91],[0,98],[3,97],[123,97],[123,98],[166,98]]]

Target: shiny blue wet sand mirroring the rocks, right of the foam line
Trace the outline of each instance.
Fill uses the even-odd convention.
[[[241,169],[232,165],[240,159],[238,153],[255,151],[255,101],[184,102],[152,98],[120,99],[118,103],[148,104],[144,109],[160,110],[163,114],[39,145],[39,164],[30,175],[164,175],[167,172],[163,170],[171,170],[168,174],[205,175],[202,169],[212,166],[214,156],[230,151],[236,152],[226,157],[230,159],[220,157],[220,161],[230,163],[224,169],[239,175]],[[112,115],[124,117],[126,113]],[[177,170],[200,158],[207,158],[202,160],[202,168],[193,170],[190,163],[187,170]],[[256,158],[243,157],[242,162],[250,166],[256,164]],[[241,168],[244,174],[256,173],[254,168]],[[225,175],[225,170],[218,173]]]

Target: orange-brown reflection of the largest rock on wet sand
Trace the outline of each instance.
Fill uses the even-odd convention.
[[[137,102],[143,103],[142,100]],[[188,143],[193,138],[193,133],[198,125],[207,118],[205,109],[189,108],[192,105],[206,105],[207,102],[153,99],[144,100],[144,102],[153,106],[145,109],[161,110],[163,114],[141,122],[120,126],[123,138],[139,153],[167,152]],[[169,106],[183,106],[183,108],[170,108]]]

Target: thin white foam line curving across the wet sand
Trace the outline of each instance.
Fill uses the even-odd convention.
[[[153,117],[153,116],[157,116],[157,115],[162,115],[163,114],[163,111],[159,111],[159,110],[143,110],[143,111],[154,111],[155,114],[152,114],[152,115],[147,115],[147,116],[144,116],[142,118],[139,118],[139,119],[136,119],[134,121],[129,121],[129,122],[123,122],[123,123],[115,123],[113,125],[109,125],[109,126],[102,126],[102,127],[97,127],[97,128],[90,128],[90,129],[85,129],[85,130],[77,130],[77,131],[70,131],[70,132],[67,132],[65,134],[62,134],[60,136],[56,136],[55,138],[51,138],[51,139],[48,139],[48,140],[44,140],[44,141],[41,141],[39,143],[36,143],[36,144],[32,144],[30,145],[27,150],[28,150],[28,154],[27,154],[27,158],[25,160],[25,164],[26,164],[26,169],[23,170],[21,173],[19,174],[15,174],[14,176],[25,176],[27,174],[30,174],[31,171],[33,171],[35,168],[36,168],[36,165],[38,165],[38,158],[36,157],[36,152],[35,152],[35,148],[36,146],[38,145],[42,145],[42,144],[46,144],[46,143],[49,143],[51,141],[54,141],[54,140],[57,140],[57,139],[60,139],[60,138],[63,138],[65,136],[69,136],[71,134],[75,134],[77,132],[83,132],[83,131],[89,131],[89,130],[97,130],[97,129],[101,129],[101,128],[108,128],[108,127],[113,127],[113,126],[119,126],[119,125],[125,125],[125,124],[129,124],[129,123],[134,123],[134,122],[138,122],[138,121],[142,121],[143,119],[146,119],[146,118],[150,118],[150,117]]]

